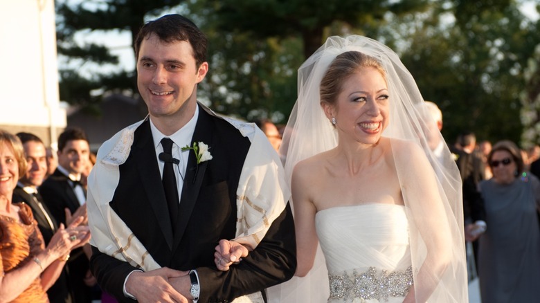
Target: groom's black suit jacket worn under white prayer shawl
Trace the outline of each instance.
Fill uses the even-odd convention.
[[[190,151],[174,232],[148,120],[135,131],[131,152],[119,167],[120,180],[110,205],[161,266],[197,269],[199,302],[228,302],[294,275],[294,223],[287,205],[248,257],[226,272],[215,268],[218,241],[235,237],[236,191],[251,143],[230,123],[199,109],[192,141],[208,144],[213,159],[197,165]],[[123,283],[136,268],[95,248],[91,269],[104,291],[120,301],[132,301],[124,297]]]

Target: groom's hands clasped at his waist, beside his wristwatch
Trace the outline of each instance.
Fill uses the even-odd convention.
[[[136,297],[138,302],[181,302],[188,299],[170,284],[174,278],[187,275],[188,272],[163,267],[147,272],[135,271],[125,284],[125,290]]]

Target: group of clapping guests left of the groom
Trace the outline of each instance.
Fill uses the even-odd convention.
[[[35,134],[0,130],[0,297],[6,301],[102,300],[89,270],[85,204],[96,157],[82,129],[67,128],[57,140],[55,151]]]

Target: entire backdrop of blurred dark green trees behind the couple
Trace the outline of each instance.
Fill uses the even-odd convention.
[[[201,100],[226,115],[286,122],[305,58],[330,35],[366,35],[396,50],[424,98],[439,105],[449,143],[465,130],[519,142],[521,109],[529,118],[540,111],[530,105],[538,72],[525,70],[540,28],[518,6],[518,0],[87,0],[58,6],[58,49],[82,62],[114,63],[118,58],[104,46],[76,46],[75,33],[129,30],[134,37],[145,18],[179,11],[210,42]],[[107,91],[135,95],[134,74],[61,70],[61,96],[96,104]]]

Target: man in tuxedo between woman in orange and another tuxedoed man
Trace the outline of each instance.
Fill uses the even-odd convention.
[[[21,132],[17,134],[17,137],[23,144],[28,167],[26,174],[21,176],[17,187],[13,190],[12,201],[22,201],[30,206],[34,219],[37,221],[37,227],[42,232],[45,245],[47,245],[58,229],[58,224],[42,196],[37,192],[37,187],[42,185],[47,171],[45,145],[34,134]],[[51,303],[71,302],[65,268],[55,284],[48,289],[47,295]]]

